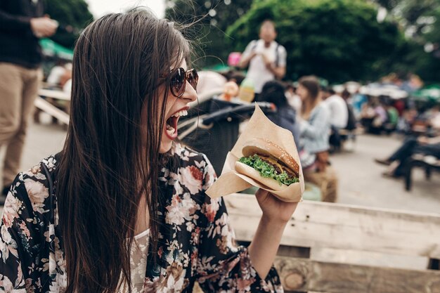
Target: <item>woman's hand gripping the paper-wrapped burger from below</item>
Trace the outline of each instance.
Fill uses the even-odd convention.
[[[263,211],[261,219],[274,223],[287,223],[297,208],[297,202],[283,202],[264,189],[255,193],[258,204]]]

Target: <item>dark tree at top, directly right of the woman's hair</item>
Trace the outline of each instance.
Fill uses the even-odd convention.
[[[213,65],[226,62],[232,46],[225,44],[225,31],[251,4],[252,0],[167,0],[165,17],[192,24],[185,32],[198,45],[198,65]]]

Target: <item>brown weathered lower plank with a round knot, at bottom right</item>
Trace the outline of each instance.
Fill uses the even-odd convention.
[[[278,256],[275,266],[286,292],[440,293],[439,271],[413,271]]]

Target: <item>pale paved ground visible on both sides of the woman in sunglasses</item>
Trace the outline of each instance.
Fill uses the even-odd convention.
[[[47,123],[48,119],[44,118],[41,120]],[[62,126],[30,126],[22,169],[28,169],[41,158],[60,151],[64,139]],[[373,158],[389,155],[400,144],[396,137],[363,135],[358,137],[354,152],[333,155],[332,164],[339,174],[338,202],[440,213],[440,174],[433,174],[432,180],[426,181],[422,170],[416,170],[410,193],[404,190],[403,181],[380,175],[384,167],[375,164]]]

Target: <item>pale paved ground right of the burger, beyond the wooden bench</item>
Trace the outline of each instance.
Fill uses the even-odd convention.
[[[332,156],[339,174],[339,200],[347,204],[440,213],[440,174],[425,179],[422,169],[413,171],[413,188],[407,192],[403,180],[384,178],[386,170],[373,162],[386,157],[401,145],[401,138],[363,135],[354,152]]]

